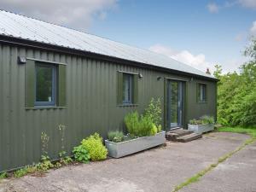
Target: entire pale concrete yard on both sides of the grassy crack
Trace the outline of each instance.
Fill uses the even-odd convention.
[[[152,148],[117,160],[66,166],[49,171],[43,177],[31,175],[3,180],[0,192],[171,192],[177,184],[216,162],[247,138],[241,134],[216,132],[190,143],[167,142],[166,147]],[[253,191],[256,183],[253,179],[256,178],[255,155],[255,145],[244,148],[184,191],[207,191],[205,189],[213,185],[219,188],[212,191],[228,191],[233,184],[234,188],[230,191]],[[239,168],[234,168],[236,166]],[[237,180],[241,177],[241,183],[233,181],[230,175],[237,177]],[[201,186],[201,183],[205,184]],[[239,185],[238,190],[236,185]]]

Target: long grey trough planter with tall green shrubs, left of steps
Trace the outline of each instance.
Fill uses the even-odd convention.
[[[154,148],[166,142],[166,131],[161,131],[160,100],[151,100],[143,115],[136,111],[125,115],[128,131],[109,131],[105,140],[108,155],[114,158],[134,154],[148,148]]]

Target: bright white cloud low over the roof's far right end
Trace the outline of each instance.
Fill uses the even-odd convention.
[[[211,73],[214,70],[214,64],[207,62],[206,56],[203,54],[193,55],[188,50],[176,51],[161,44],[155,44],[149,47],[149,49],[156,53],[169,56],[174,60],[188,64],[191,67],[195,67],[202,72],[206,72],[207,68],[210,69]]]

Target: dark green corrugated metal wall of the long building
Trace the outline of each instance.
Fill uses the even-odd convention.
[[[67,63],[67,108],[25,108],[25,65],[17,64],[18,55]],[[138,82],[137,107],[117,106],[119,70],[143,74]],[[61,151],[61,134],[57,129],[60,124],[67,125],[68,152],[91,133],[97,131],[106,137],[109,130],[122,129],[125,113],[131,110],[142,113],[151,97],[164,99],[164,80],[157,80],[158,76],[181,78],[151,69],[0,44],[0,172],[38,162],[42,131],[49,135],[50,157],[57,158]],[[189,82],[187,119],[214,114],[216,110],[215,90],[212,90],[216,83],[207,82],[208,90],[213,92],[207,103],[198,104],[193,97],[195,82]]]

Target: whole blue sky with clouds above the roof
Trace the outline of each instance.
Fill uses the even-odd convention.
[[[167,55],[238,71],[256,36],[256,0],[1,0],[0,9]]]

